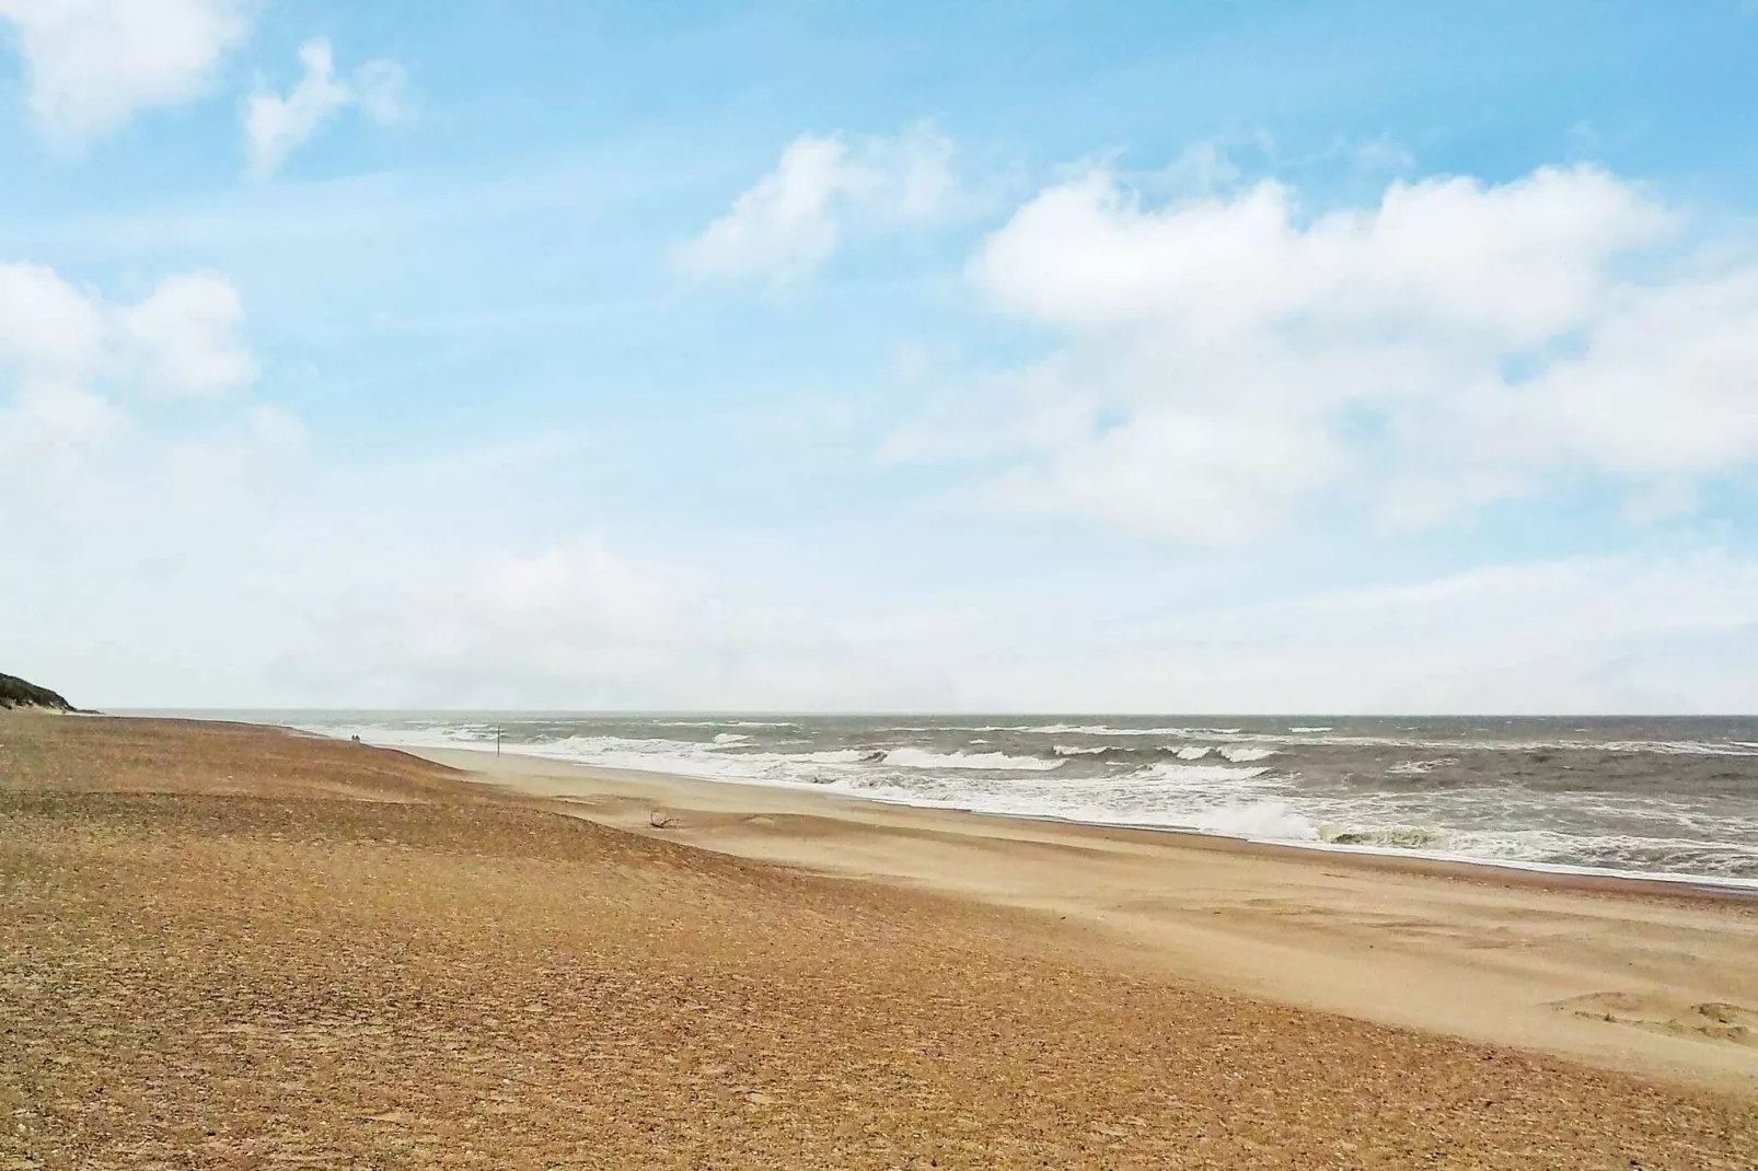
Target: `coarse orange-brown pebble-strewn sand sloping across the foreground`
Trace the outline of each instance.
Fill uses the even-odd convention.
[[[1751,1097],[248,728],[0,716],[0,1167],[1758,1166]]]

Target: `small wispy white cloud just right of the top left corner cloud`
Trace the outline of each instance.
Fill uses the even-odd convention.
[[[322,39],[308,40],[299,62],[306,72],[285,97],[265,91],[244,104],[248,171],[255,178],[274,174],[318,127],[350,105],[378,123],[406,114],[406,76],[396,62],[367,62],[338,77],[334,53]]]

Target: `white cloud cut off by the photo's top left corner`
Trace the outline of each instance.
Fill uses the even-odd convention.
[[[0,0],[30,74],[30,109],[58,142],[114,130],[207,86],[248,26],[239,0]]]

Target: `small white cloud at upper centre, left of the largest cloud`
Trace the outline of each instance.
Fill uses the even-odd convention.
[[[809,276],[851,223],[895,227],[939,215],[953,195],[951,156],[951,141],[926,125],[853,148],[835,135],[800,135],[673,262],[698,278]]]

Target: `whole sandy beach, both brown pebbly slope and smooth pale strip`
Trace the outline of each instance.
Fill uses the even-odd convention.
[[[32,714],[0,890],[7,1167],[1758,1166],[1737,891]]]

